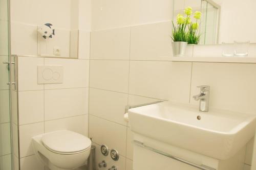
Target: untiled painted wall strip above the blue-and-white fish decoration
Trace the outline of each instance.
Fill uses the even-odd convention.
[[[61,8],[59,5],[61,4]],[[44,7],[47,6],[47,10]],[[56,12],[58,9],[58,12]],[[69,0],[46,0],[42,1],[11,1],[11,19],[33,25],[54,23],[56,28],[70,28],[70,1]],[[33,14],[33,15],[31,15]]]

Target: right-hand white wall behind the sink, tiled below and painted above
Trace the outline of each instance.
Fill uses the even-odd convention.
[[[113,5],[115,4],[115,5]],[[89,135],[97,163],[132,169],[132,132],[123,121],[126,105],[157,100],[197,104],[197,86],[211,86],[210,108],[256,114],[256,64],[172,62],[172,1],[95,0],[92,3]],[[249,55],[255,54],[255,44]],[[220,45],[188,46],[186,56],[221,56]],[[252,143],[246,163],[251,164]],[[117,149],[111,161],[98,149]],[[108,169],[102,168],[103,170]]]

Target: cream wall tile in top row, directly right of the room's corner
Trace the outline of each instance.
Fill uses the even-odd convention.
[[[95,31],[91,35],[91,59],[129,60],[129,27]]]

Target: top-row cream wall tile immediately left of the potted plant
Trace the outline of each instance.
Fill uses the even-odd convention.
[[[172,23],[159,22],[131,28],[131,60],[169,60]]]

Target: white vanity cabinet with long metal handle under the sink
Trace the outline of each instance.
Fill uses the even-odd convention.
[[[139,134],[134,134],[134,139],[134,170],[243,170],[244,168],[246,147],[227,160],[218,160]]]

